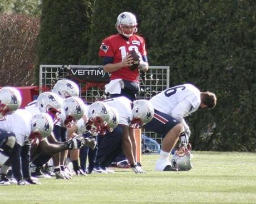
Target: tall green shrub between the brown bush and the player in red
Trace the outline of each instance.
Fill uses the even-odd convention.
[[[87,48],[92,1],[51,1],[42,3],[38,41],[38,63],[79,64]]]

